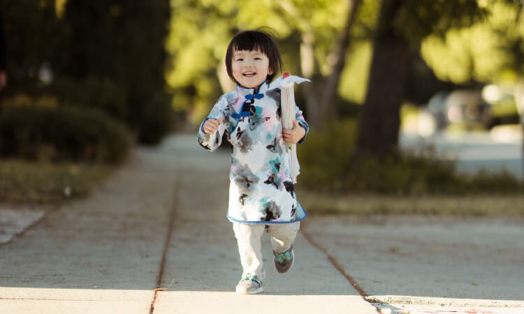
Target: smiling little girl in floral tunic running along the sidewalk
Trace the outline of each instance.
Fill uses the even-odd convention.
[[[305,211],[296,200],[287,145],[302,143],[309,127],[295,106],[293,130],[282,129],[283,78],[272,82],[282,59],[268,33],[238,33],[229,43],[226,68],[237,88],[214,105],[198,130],[198,143],[214,151],[225,132],[233,146],[227,217],[233,223],[243,269],[235,291],[256,294],[265,277],[264,230],[270,235],[277,271],[285,273],[293,266],[293,242]]]

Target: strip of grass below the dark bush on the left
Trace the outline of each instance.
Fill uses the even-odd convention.
[[[0,160],[0,202],[59,204],[85,197],[93,186],[108,177],[111,169],[101,164]]]

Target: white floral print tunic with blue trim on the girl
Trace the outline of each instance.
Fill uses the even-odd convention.
[[[217,149],[224,133],[233,147],[227,214],[232,222],[270,225],[305,218],[291,181],[288,145],[282,138],[280,84],[282,77],[272,84],[264,82],[259,90],[238,86],[222,95],[205,119],[223,119],[216,133],[203,132],[203,123],[198,131],[198,143],[205,149]],[[302,111],[296,106],[295,111],[307,134]]]

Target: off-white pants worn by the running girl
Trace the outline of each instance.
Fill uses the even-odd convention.
[[[296,239],[299,228],[300,222],[269,225],[267,231],[270,235],[273,251],[282,253],[289,250]],[[265,277],[261,251],[261,237],[264,230],[265,225],[263,224],[233,223],[233,231],[237,238],[238,253],[240,253],[240,262],[242,263],[242,277],[246,274],[257,276],[260,279]]]

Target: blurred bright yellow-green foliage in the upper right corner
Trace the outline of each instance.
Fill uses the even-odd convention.
[[[442,80],[489,82],[524,73],[524,19],[511,1],[479,1],[486,17],[473,27],[433,33],[423,40],[425,61]],[[508,71],[514,75],[508,75]]]

